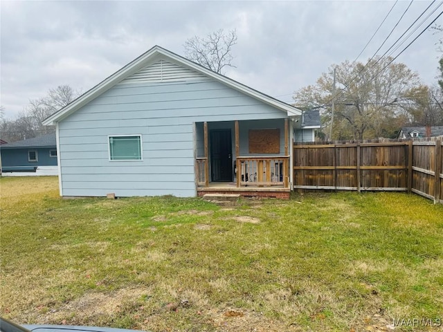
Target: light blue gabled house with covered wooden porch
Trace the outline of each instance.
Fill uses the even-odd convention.
[[[154,46],[44,124],[62,196],[289,196],[301,115]]]

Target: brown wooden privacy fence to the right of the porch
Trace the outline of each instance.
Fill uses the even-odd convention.
[[[443,203],[442,141],[293,146],[297,190],[415,192]]]

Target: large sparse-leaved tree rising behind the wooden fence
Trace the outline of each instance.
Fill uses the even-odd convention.
[[[391,63],[391,58],[374,58],[368,64],[345,61],[335,66],[336,93],[333,95],[333,72],[317,80],[314,86],[296,91],[297,107],[323,107],[331,125],[329,106],[335,100],[335,118],[331,139],[359,139],[395,136],[404,104],[416,107],[417,94],[424,88],[417,73],[405,64]],[[414,99],[415,98],[415,99]],[[401,126],[400,126],[401,127]]]

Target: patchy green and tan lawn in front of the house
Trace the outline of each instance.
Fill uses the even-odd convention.
[[[419,196],[222,208],[172,196],[63,200],[57,178],[0,181],[0,314],[16,322],[365,331],[442,318],[443,205]]]

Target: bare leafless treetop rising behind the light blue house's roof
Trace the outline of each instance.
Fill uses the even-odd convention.
[[[227,34],[223,29],[210,33],[206,38],[199,36],[186,40],[183,47],[185,55],[193,62],[201,64],[211,71],[223,74],[225,66],[235,67],[231,62],[231,50],[237,44],[237,31],[230,30]]]

